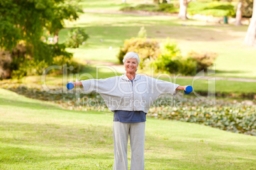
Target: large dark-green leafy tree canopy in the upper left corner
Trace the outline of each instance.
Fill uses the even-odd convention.
[[[72,0],[0,0],[0,47],[11,51],[23,40],[38,58],[44,30],[55,34],[64,20],[76,20],[78,11]]]

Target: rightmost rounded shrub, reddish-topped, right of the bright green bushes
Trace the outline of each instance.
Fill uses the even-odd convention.
[[[193,58],[197,62],[197,72],[204,70],[206,71],[208,67],[213,65],[214,60],[217,58],[218,54],[213,52],[195,52],[190,51],[188,57]]]

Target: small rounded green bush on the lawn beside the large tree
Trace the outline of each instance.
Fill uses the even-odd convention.
[[[68,32],[68,38],[66,41],[66,44],[70,48],[78,48],[79,45],[82,45],[87,41],[89,38],[88,34],[85,33],[83,29],[76,28],[76,29],[71,29]]]

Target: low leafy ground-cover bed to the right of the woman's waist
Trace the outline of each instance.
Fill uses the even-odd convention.
[[[256,107],[243,103],[229,103],[216,101],[215,105],[208,105],[213,101],[198,98],[183,98],[180,105],[162,105],[163,99],[155,101],[148,117],[170,119],[183,122],[196,122],[213,128],[256,136]],[[170,100],[170,99],[169,99]],[[179,99],[180,100],[180,99]],[[161,101],[161,102],[160,102]],[[168,98],[166,98],[168,101]],[[172,101],[172,100],[170,100]],[[160,102],[160,105],[157,105]]]

